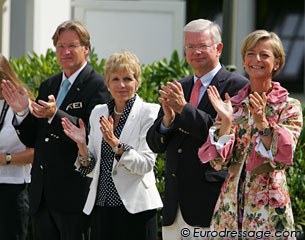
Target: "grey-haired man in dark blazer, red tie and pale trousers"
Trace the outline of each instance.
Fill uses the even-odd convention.
[[[216,172],[209,164],[201,164],[198,158],[198,148],[206,141],[216,117],[205,91],[209,85],[215,85],[224,98],[226,92],[236,95],[248,82],[220,64],[223,44],[216,23],[199,19],[187,24],[184,47],[194,76],[162,87],[162,109],[147,134],[148,145],[154,152],[166,152],[163,240],[205,239],[198,231],[209,228],[227,175]],[[197,93],[194,85],[198,86]],[[195,231],[195,227],[199,228]]]

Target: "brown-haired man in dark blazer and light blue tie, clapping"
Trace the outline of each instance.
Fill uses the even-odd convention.
[[[103,76],[87,62],[90,35],[80,22],[63,22],[52,39],[63,72],[41,84],[30,107],[22,88],[9,81],[2,88],[15,112],[20,139],[35,148],[29,190],[34,239],[83,240],[88,238],[88,217],[82,209],[90,179],[75,170],[78,148],[63,132],[61,119],[77,124],[81,118],[87,124],[93,107],[108,101],[110,94]]]

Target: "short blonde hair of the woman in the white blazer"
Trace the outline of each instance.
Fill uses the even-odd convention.
[[[110,76],[112,73],[128,72],[134,76],[141,85],[141,65],[138,57],[131,52],[113,53],[107,60],[104,67],[106,86],[109,86]]]

